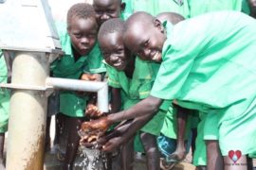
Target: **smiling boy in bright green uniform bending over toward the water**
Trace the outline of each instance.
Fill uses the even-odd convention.
[[[243,13],[223,11],[164,28],[151,15],[137,12],[126,23],[124,42],[141,59],[162,62],[155,85],[151,96],[133,108],[99,121],[109,124],[153,113],[160,98],[176,98],[179,106],[207,112],[208,123],[217,117],[214,124],[205,124],[204,135],[218,137],[226,168],[245,169],[246,155],[255,153],[255,26]],[[229,158],[233,149],[241,151],[238,160]],[[208,168],[222,169],[219,162],[212,165]]]

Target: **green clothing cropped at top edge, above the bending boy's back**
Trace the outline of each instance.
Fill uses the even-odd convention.
[[[242,0],[188,0],[190,16],[194,17],[210,11],[242,10]]]

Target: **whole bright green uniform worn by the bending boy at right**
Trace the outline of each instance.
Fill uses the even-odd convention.
[[[217,114],[218,134],[213,135],[224,156],[233,149],[243,155],[256,150],[255,26],[246,14],[222,11],[166,27],[168,39],[151,95]]]

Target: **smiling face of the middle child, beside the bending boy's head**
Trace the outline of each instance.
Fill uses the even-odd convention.
[[[106,34],[99,37],[99,43],[105,61],[117,70],[123,71],[132,56],[124,47],[122,35],[118,32]]]

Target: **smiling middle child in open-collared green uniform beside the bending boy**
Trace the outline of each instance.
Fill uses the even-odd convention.
[[[123,46],[122,31],[124,22],[120,19],[111,19],[100,28],[98,40],[101,52],[107,63],[108,82],[112,87],[113,111],[117,112],[123,104],[123,109],[128,109],[150,93],[151,85],[155,79],[158,66],[136,59],[129,50]],[[154,68],[155,67],[155,68]],[[158,114],[145,127],[141,128],[140,139],[147,156],[148,169],[159,169],[159,153],[155,136],[159,135],[164,111]],[[122,157],[124,167],[132,169],[133,140],[124,144],[129,155]],[[126,159],[126,160],[124,160]]]

